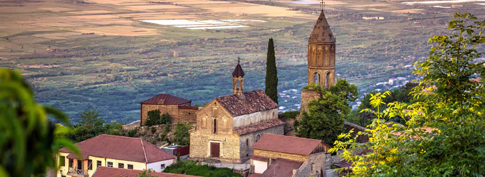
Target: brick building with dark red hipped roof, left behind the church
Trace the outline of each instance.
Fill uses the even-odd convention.
[[[172,122],[195,122],[198,107],[191,106],[191,101],[169,94],[158,94],[140,103],[140,124],[148,118],[148,111],[158,109],[160,114],[168,113]]]

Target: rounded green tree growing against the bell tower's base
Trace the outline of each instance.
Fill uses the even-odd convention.
[[[339,78],[335,86],[328,89],[316,85],[313,89],[320,93],[320,98],[308,103],[308,113],[304,112],[301,120],[295,123],[295,133],[332,144],[345,130],[344,118],[351,110],[348,102],[357,99],[357,87]]]

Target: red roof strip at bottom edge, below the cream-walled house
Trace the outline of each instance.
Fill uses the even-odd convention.
[[[97,167],[95,173],[91,177],[138,177],[143,170],[120,169],[113,167]],[[169,174],[163,172],[148,173],[150,177],[196,177],[191,175]]]

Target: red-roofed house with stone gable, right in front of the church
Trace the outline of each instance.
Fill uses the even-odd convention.
[[[330,146],[318,139],[264,134],[252,148],[251,177],[318,177]]]

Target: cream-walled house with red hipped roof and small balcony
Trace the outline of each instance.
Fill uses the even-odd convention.
[[[101,134],[76,146],[82,156],[65,147],[59,150],[57,177],[90,177],[98,167],[161,172],[177,161],[176,156],[141,138]]]

